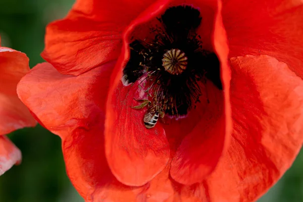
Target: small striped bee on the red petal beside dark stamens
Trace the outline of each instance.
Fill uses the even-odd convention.
[[[144,114],[143,122],[147,129],[154,128],[158,122],[159,117],[163,119],[165,113],[160,110],[156,102],[150,102],[148,99],[135,99],[137,102],[142,102],[141,105],[132,107],[133,109],[142,109],[148,107]]]

